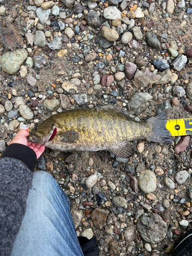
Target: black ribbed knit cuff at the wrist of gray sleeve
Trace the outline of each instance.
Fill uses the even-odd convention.
[[[19,143],[13,143],[9,145],[6,148],[2,158],[3,157],[11,157],[24,162],[31,170],[31,172],[34,171],[37,162],[37,156],[35,152],[29,146]]]

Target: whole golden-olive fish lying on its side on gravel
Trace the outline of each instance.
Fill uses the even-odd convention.
[[[109,150],[121,158],[135,152],[133,140],[171,143],[167,115],[131,120],[113,110],[78,109],[55,114],[30,131],[28,141],[61,152]]]

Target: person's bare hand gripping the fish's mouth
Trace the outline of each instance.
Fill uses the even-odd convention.
[[[31,141],[28,141],[27,136],[29,136],[29,133],[25,129],[21,129],[15,135],[15,137],[12,139],[9,145],[13,143],[19,143],[19,144],[29,146],[35,152],[38,159],[41,156],[41,154],[44,153],[46,147],[44,145],[39,145]]]

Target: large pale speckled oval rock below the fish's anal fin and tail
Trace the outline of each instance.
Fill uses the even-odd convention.
[[[152,170],[143,170],[138,178],[139,187],[146,193],[152,193],[156,190],[156,175]]]

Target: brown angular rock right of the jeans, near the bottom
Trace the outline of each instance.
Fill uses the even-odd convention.
[[[95,209],[92,212],[91,218],[96,228],[101,229],[106,225],[106,217],[108,217],[109,213],[110,211],[105,209]]]

